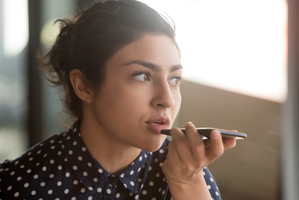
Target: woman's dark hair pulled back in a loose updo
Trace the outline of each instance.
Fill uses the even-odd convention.
[[[97,94],[105,80],[107,62],[127,44],[144,34],[163,34],[176,44],[174,24],[134,0],[97,2],[74,19],[56,22],[61,30],[52,49],[45,57],[37,57],[51,77],[48,80],[63,86],[66,112],[77,118],[82,115],[82,102],[71,85],[71,70],[80,70],[80,79]]]

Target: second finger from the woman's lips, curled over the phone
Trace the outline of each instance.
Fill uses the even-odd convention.
[[[189,139],[189,143],[190,143],[190,147],[191,147],[191,151],[192,151],[192,156],[193,156],[193,158],[195,158],[197,160],[200,157],[202,157],[203,155],[205,155],[204,154],[205,144],[202,141],[201,136],[197,132],[194,124],[192,124],[191,122],[188,122],[185,125],[185,129],[186,129],[187,137]]]

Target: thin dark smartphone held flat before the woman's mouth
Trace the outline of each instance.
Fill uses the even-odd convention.
[[[184,134],[186,134],[186,130],[184,128],[180,129]],[[236,138],[236,139],[245,139],[247,135],[245,133],[235,133],[229,130],[219,129],[219,128],[196,128],[197,132],[202,136],[202,139],[210,138],[210,133],[213,130],[219,130],[222,135],[222,138]],[[161,134],[170,136],[170,129],[165,129],[160,131]]]

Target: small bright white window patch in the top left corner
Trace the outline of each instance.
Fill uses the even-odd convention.
[[[3,0],[4,56],[18,55],[29,39],[28,0]]]

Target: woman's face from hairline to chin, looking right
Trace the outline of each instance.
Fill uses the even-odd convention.
[[[108,62],[106,80],[92,101],[99,131],[115,143],[156,151],[181,105],[181,59],[164,35],[145,35]]]

